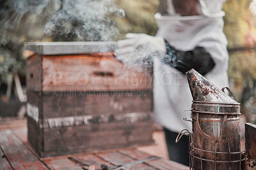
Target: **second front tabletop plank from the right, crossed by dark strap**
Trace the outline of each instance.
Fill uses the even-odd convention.
[[[107,162],[111,162],[115,165],[122,165],[124,163],[132,162],[136,159],[131,159],[129,157],[126,157],[125,155],[122,155],[118,152],[110,152],[110,153],[99,153],[97,154],[100,159],[106,160]],[[155,169],[152,167],[147,166],[146,164],[135,164],[129,167],[124,167],[124,169]]]

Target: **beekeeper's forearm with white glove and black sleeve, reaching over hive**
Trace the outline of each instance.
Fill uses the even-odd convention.
[[[176,50],[161,37],[131,33],[126,37],[128,39],[118,41],[115,50],[117,59],[123,62],[132,63],[157,57],[182,73],[193,68],[202,75],[209,73],[215,65],[210,53],[202,46],[183,52]]]

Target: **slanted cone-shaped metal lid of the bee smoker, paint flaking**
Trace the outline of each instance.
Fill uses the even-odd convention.
[[[232,97],[222,92],[204,76],[195,71],[195,69],[189,70],[186,75],[194,101],[237,103]]]

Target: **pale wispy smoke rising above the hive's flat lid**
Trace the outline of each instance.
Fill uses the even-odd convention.
[[[63,0],[45,25],[45,33],[67,38],[77,36],[85,41],[108,41],[118,35],[115,23],[109,19],[111,14],[124,17],[124,11],[113,0]]]

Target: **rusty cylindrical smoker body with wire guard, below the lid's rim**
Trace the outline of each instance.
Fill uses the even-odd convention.
[[[239,115],[192,112],[195,169],[239,169]]]

